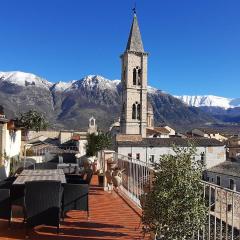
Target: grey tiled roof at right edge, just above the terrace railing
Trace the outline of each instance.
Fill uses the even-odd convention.
[[[208,172],[220,173],[234,177],[240,177],[240,163],[225,161],[207,170]]]

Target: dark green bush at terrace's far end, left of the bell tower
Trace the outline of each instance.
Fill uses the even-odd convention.
[[[88,134],[87,140],[87,156],[95,156],[98,151],[107,149],[112,145],[112,139],[108,133],[98,132],[98,134]]]

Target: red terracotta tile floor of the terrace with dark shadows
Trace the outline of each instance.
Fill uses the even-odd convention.
[[[97,186],[94,176],[90,190],[90,218],[86,213],[71,211],[61,223],[60,233],[47,226],[38,226],[29,234],[30,239],[143,239],[140,216],[117,193],[104,192]],[[0,240],[25,239],[21,218],[13,218],[11,229],[7,222],[0,220]]]

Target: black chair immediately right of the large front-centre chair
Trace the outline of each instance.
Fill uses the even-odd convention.
[[[66,183],[63,188],[62,217],[64,218],[69,210],[86,211],[89,217],[88,184]]]

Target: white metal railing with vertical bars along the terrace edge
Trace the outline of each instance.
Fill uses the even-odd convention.
[[[119,190],[141,208],[141,198],[151,182],[153,169],[149,163],[115,152],[112,159],[123,172]],[[240,193],[205,181],[202,186],[207,219],[203,228],[193,234],[193,239],[240,239]]]

